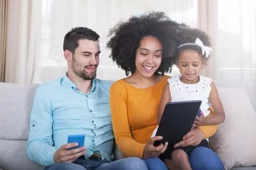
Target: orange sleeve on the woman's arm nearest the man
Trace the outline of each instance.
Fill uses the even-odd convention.
[[[146,144],[133,139],[127,113],[127,93],[122,82],[114,82],[110,88],[110,111],[115,142],[124,156],[143,157]]]

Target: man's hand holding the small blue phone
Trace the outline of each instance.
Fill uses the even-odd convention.
[[[79,156],[84,156],[85,147],[76,148],[73,150],[68,150],[77,146],[77,143],[64,144],[61,148],[55,151],[54,161],[55,163],[71,163],[79,158]]]

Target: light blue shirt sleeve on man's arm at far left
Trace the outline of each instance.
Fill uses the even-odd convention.
[[[49,95],[39,87],[32,105],[26,152],[32,161],[44,167],[55,164],[53,156],[57,149],[53,146],[52,122]]]

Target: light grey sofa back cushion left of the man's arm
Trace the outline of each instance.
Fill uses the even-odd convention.
[[[36,84],[0,83],[0,139],[28,139]]]

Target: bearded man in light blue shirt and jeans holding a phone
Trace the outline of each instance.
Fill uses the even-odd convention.
[[[67,74],[39,86],[35,94],[27,155],[47,170],[148,169],[139,158],[111,162],[111,84],[95,79],[101,53],[98,39],[88,28],[69,31],[63,45]],[[85,134],[83,147],[71,149],[77,144],[67,144],[68,135],[74,134]]]

